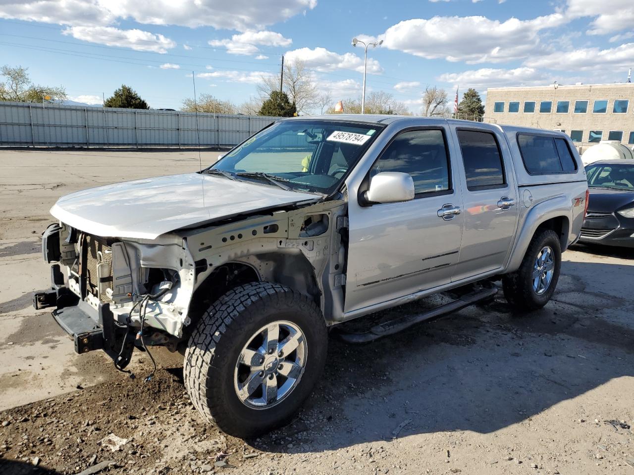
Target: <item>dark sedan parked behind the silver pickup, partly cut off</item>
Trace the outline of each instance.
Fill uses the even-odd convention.
[[[600,160],[586,174],[590,200],[579,241],[634,247],[634,160]]]

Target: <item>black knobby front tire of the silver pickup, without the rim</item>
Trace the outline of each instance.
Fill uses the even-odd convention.
[[[249,338],[276,320],[301,327],[307,345],[304,373],[287,398],[253,409],[236,394],[235,365]],[[191,334],[184,357],[185,387],[211,424],[232,436],[258,436],[290,422],[321,376],[327,346],[323,316],[307,296],[270,282],[237,286],[209,307]]]

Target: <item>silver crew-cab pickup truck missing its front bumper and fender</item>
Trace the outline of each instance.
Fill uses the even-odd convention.
[[[254,436],[311,393],[329,331],[373,341],[491,299],[498,281],[519,311],[543,307],[587,205],[560,132],[291,118],[199,173],[60,198],[42,240],[52,286],[34,305],[120,369],[134,348],[183,352],[200,414]],[[346,328],[439,293],[421,314]]]

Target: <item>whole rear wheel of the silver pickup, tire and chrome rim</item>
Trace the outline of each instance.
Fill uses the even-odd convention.
[[[533,236],[519,269],[502,278],[504,296],[517,310],[537,310],[552,298],[560,269],[559,236],[545,229]]]

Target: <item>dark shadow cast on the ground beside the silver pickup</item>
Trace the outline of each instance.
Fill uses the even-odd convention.
[[[574,272],[593,276],[610,267],[574,263]],[[613,378],[634,376],[634,320],[611,321],[630,314],[631,296],[624,297],[593,293],[577,275],[564,274],[554,300],[531,314],[513,314],[498,295],[489,305],[367,345],[331,339],[325,374],[306,409],[262,447],[335,450],[395,434],[491,433],[526,421]],[[415,313],[419,305],[391,311]],[[285,437],[302,431],[325,437],[287,448]]]

